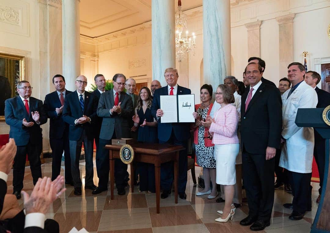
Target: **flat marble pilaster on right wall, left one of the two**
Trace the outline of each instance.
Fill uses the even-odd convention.
[[[246,23],[248,29],[248,57],[260,57],[260,25],[262,21]]]

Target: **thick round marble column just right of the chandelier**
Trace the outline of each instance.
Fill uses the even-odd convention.
[[[203,0],[204,83],[216,87],[231,74],[230,1]]]

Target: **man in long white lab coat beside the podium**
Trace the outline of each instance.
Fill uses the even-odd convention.
[[[289,171],[293,191],[292,203],[283,206],[293,209],[289,219],[300,220],[312,208],[311,178],[314,150],[314,130],[295,124],[298,108],[315,108],[317,94],[304,82],[305,67],[299,62],[288,66],[291,89],[282,95],[282,140],[280,166]]]

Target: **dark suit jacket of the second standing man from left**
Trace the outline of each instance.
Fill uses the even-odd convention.
[[[71,92],[72,91],[65,90],[65,97]],[[57,91],[51,92],[46,95],[44,101],[44,108],[47,117],[50,119],[49,138],[62,138],[64,130],[69,129],[69,124],[64,122],[62,114],[57,115],[55,111],[55,108],[60,108],[61,106],[61,101],[58,98]]]

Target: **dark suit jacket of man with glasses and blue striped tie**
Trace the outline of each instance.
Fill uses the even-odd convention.
[[[80,107],[79,97],[77,91],[73,91],[68,94],[64,99],[63,107],[63,120],[68,123],[69,126],[69,140],[78,141],[82,136],[82,130],[86,131],[86,136],[88,139],[94,139],[93,127],[96,123],[96,109],[97,109],[97,97],[85,91],[84,99],[84,111]],[[86,122],[84,124],[75,124],[75,120],[85,115],[91,119],[91,122]]]

